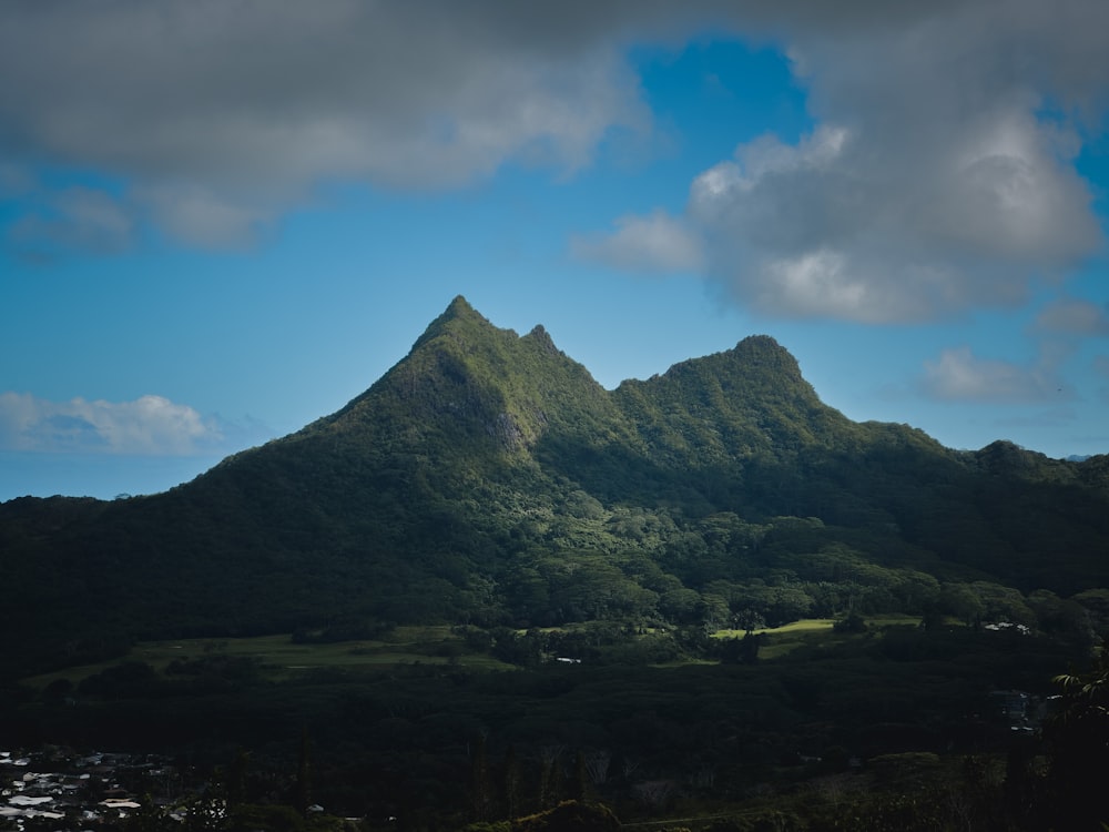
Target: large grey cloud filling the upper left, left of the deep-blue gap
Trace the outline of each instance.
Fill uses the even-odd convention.
[[[644,129],[619,21],[523,6],[16,0],[0,155],[110,171],[171,233],[225,245],[319,182],[573,170]]]

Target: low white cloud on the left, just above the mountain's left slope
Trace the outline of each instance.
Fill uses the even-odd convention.
[[[227,449],[227,427],[162,396],[48,402],[0,393],[0,450],[193,456]]]

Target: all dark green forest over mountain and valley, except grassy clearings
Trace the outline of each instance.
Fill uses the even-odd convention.
[[[0,505],[0,741],[215,765],[311,729],[318,791],[411,828],[567,799],[721,830],[1037,829],[1065,798],[1092,822],[1060,772],[1105,759],[1107,552],[1109,456],[851,422],[765,336],[606,390],[459,297],[345,408],[192,483]],[[420,627],[423,661],[279,680],[133,652]],[[1004,690],[1058,712],[1017,726]]]

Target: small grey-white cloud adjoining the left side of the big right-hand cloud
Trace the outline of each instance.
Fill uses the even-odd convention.
[[[701,240],[682,220],[664,211],[648,216],[622,216],[606,236],[579,236],[571,253],[614,268],[639,272],[696,272],[703,263]]]

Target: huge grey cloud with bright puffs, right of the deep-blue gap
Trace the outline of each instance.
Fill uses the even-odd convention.
[[[706,275],[782,316],[934,319],[1019,304],[1102,246],[1075,169],[1103,126],[1093,0],[744,4],[787,47],[815,128],[694,179]]]

